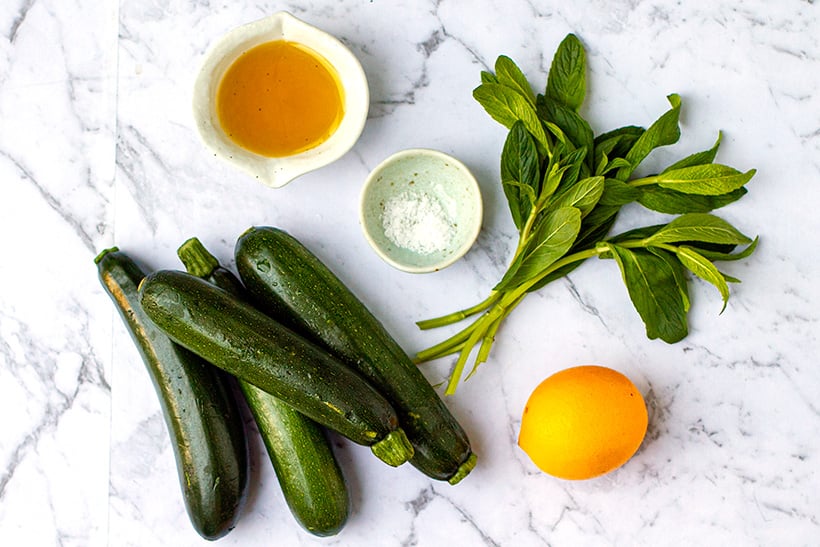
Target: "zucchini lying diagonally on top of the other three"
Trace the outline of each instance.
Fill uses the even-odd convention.
[[[317,345],[194,275],[149,274],[140,303],[172,340],[398,466],[413,454],[396,411]]]

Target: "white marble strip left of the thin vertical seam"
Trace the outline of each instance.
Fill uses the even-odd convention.
[[[104,544],[111,322],[88,260],[114,217],[117,6],[0,11],[0,538]]]

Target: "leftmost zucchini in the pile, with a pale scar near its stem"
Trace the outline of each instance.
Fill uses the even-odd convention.
[[[191,523],[203,538],[220,538],[236,525],[249,474],[244,424],[230,390],[233,380],[173,343],[148,319],[137,292],[145,274],[131,258],[113,247],[94,262],[156,389]]]

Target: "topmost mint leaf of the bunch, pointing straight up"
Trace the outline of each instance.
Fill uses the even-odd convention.
[[[581,41],[568,34],[558,45],[547,76],[546,95],[577,111],[586,95],[586,53]]]

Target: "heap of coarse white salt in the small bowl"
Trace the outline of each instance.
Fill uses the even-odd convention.
[[[441,203],[428,194],[403,192],[384,203],[384,235],[394,244],[419,254],[443,251],[454,227]]]

